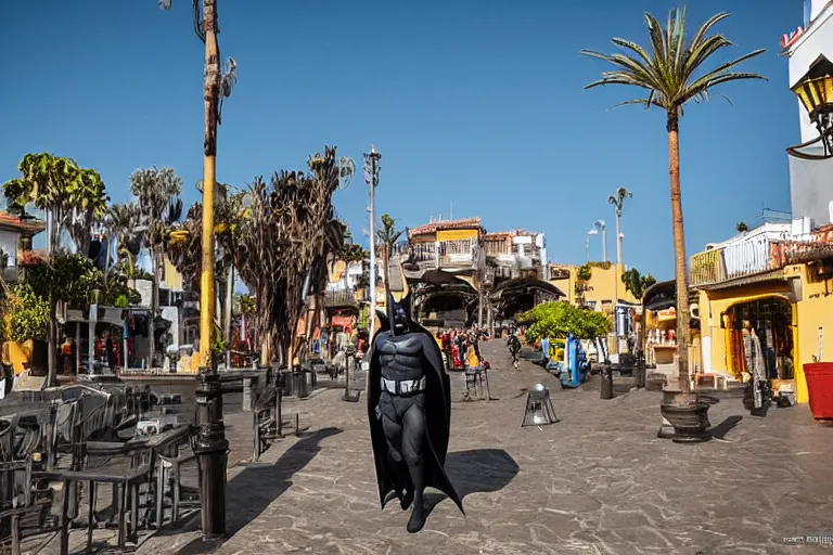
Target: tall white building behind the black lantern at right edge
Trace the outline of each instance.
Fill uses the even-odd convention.
[[[794,0],[795,1],[795,0]],[[795,86],[813,65],[833,62],[833,0],[804,0],[804,22],[796,30],[781,38],[783,53],[790,57],[790,87]],[[818,67],[818,66],[816,66]],[[802,132],[802,143],[819,137],[807,111],[795,102]],[[805,152],[821,152],[821,143]],[[790,156],[790,198],[794,217],[810,217],[817,225],[831,222],[829,205],[833,201],[833,158],[802,159]]]

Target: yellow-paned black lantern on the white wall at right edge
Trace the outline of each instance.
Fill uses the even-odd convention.
[[[809,72],[790,89],[802,101],[810,121],[819,131],[819,137],[786,151],[798,158],[833,158],[833,63],[820,55],[810,66]],[[802,152],[799,149],[821,141],[823,154]]]

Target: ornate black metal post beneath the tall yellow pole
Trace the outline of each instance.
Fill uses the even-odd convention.
[[[203,540],[226,533],[226,467],[229,442],[222,422],[222,388],[217,369],[201,367],[196,386],[198,433],[194,454],[200,468],[200,503]]]

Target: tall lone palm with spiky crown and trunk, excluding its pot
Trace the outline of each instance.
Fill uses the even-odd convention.
[[[626,101],[625,104],[640,104],[645,108],[656,106],[667,114],[669,175],[671,184],[671,218],[674,229],[674,259],[677,280],[677,354],[679,357],[679,382],[683,396],[680,402],[688,402],[689,387],[689,295],[685,267],[685,242],[682,227],[682,202],[680,198],[680,144],[679,120],[683,106],[692,101],[708,100],[718,85],[745,79],[765,79],[758,74],[733,72],[742,62],[762,53],[762,49],[744,54],[730,62],[704,72],[704,65],[713,54],[732,43],[722,35],[707,36],[709,30],[729,17],[721,12],[710,17],[690,39],[685,39],[685,9],[671,10],[668,24],[662,24],[651,14],[645,23],[651,39],[651,53],[629,40],[614,38],[612,42],[635,55],[624,53],[601,54],[582,50],[581,53],[602,60],[615,66],[604,72],[602,78],[585,89],[602,85],[629,85],[642,89],[645,95]]]

